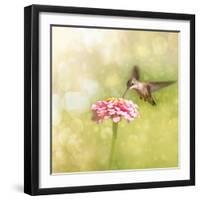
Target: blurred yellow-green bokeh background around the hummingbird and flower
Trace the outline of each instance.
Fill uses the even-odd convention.
[[[134,91],[140,118],[121,121],[113,169],[178,167],[178,33],[52,27],[52,172],[108,170],[112,122],[96,124],[90,107],[120,97],[133,65],[142,80],[177,80],[153,94]]]

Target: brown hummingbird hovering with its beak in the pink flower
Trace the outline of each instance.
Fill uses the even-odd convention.
[[[127,88],[123,94],[123,98],[128,90],[135,90],[141,100],[149,102],[151,105],[156,105],[152,97],[152,92],[167,87],[176,81],[140,81],[140,70],[138,66],[134,66],[130,79],[127,82]]]

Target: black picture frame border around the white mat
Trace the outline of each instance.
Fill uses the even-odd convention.
[[[190,23],[190,179],[162,182],[39,188],[39,13],[77,13]],[[30,195],[187,186],[195,184],[195,15],[31,5],[24,9],[24,192]]]

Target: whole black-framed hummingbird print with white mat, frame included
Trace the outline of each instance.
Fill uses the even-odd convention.
[[[25,8],[24,191],[195,184],[195,16]]]

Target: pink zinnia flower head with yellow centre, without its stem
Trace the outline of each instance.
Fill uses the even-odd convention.
[[[134,120],[139,115],[138,106],[130,100],[123,98],[108,98],[97,101],[91,106],[92,120],[101,123],[104,119],[112,119],[117,123],[122,118],[127,122]]]

